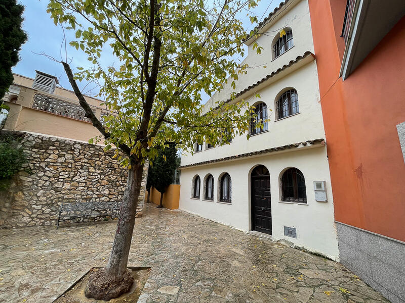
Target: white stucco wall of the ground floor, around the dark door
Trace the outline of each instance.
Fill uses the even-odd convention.
[[[241,230],[251,230],[250,172],[257,165],[266,166],[270,172],[273,239],[286,239],[338,260],[333,196],[325,146],[183,169],[180,209]],[[305,177],[307,204],[280,202],[280,174],[289,167],[298,168]],[[223,172],[229,173],[232,179],[231,204],[218,202],[218,182]],[[193,177],[199,175],[203,183],[209,173],[215,181],[214,201],[203,199],[203,184],[200,187],[200,199],[191,198]],[[326,181],[328,202],[315,201],[313,181],[319,180]],[[284,226],[297,228],[297,239],[284,236]]]

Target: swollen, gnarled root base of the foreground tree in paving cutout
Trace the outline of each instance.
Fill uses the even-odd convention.
[[[100,268],[91,274],[85,295],[88,298],[108,301],[129,291],[133,283],[134,277],[130,269],[127,269],[124,275],[120,277],[107,278],[105,268]]]

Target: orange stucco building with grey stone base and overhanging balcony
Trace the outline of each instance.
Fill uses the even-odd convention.
[[[340,260],[405,302],[405,2],[308,1]]]

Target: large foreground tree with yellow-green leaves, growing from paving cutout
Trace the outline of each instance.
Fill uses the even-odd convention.
[[[128,255],[145,160],[153,160],[168,141],[182,149],[204,140],[221,145],[225,131],[238,135],[249,129],[252,109],[245,100],[223,100],[205,114],[200,102],[201,91],[211,95],[227,79],[235,87],[246,71],[232,56],[244,54],[248,36],[238,13],[254,6],[253,0],[50,0],[55,24],[75,30],[70,45],[82,49],[92,64],[73,75],[62,62],[86,117],[101,133],[95,141],[105,140],[105,150],[118,147],[114,157],[129,171],[107,267],[92,274],[86,296],[108,300],[132,284]],[[254,46],[260,53],[261,47]],[[100,58],[108,47],[117,65],[104,68]],[[116,116],[102,124],[76,80],[102,82],[100,96]]]

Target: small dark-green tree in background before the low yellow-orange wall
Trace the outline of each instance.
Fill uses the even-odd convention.
[[[177,167],[177,149],[175,143],[169,143],[169,147],[159,149],[157,157],[153,160],[150,183],[160,192],[159,208],[163,208],[163,194],[167,187],[173,183],[174,173]]]

